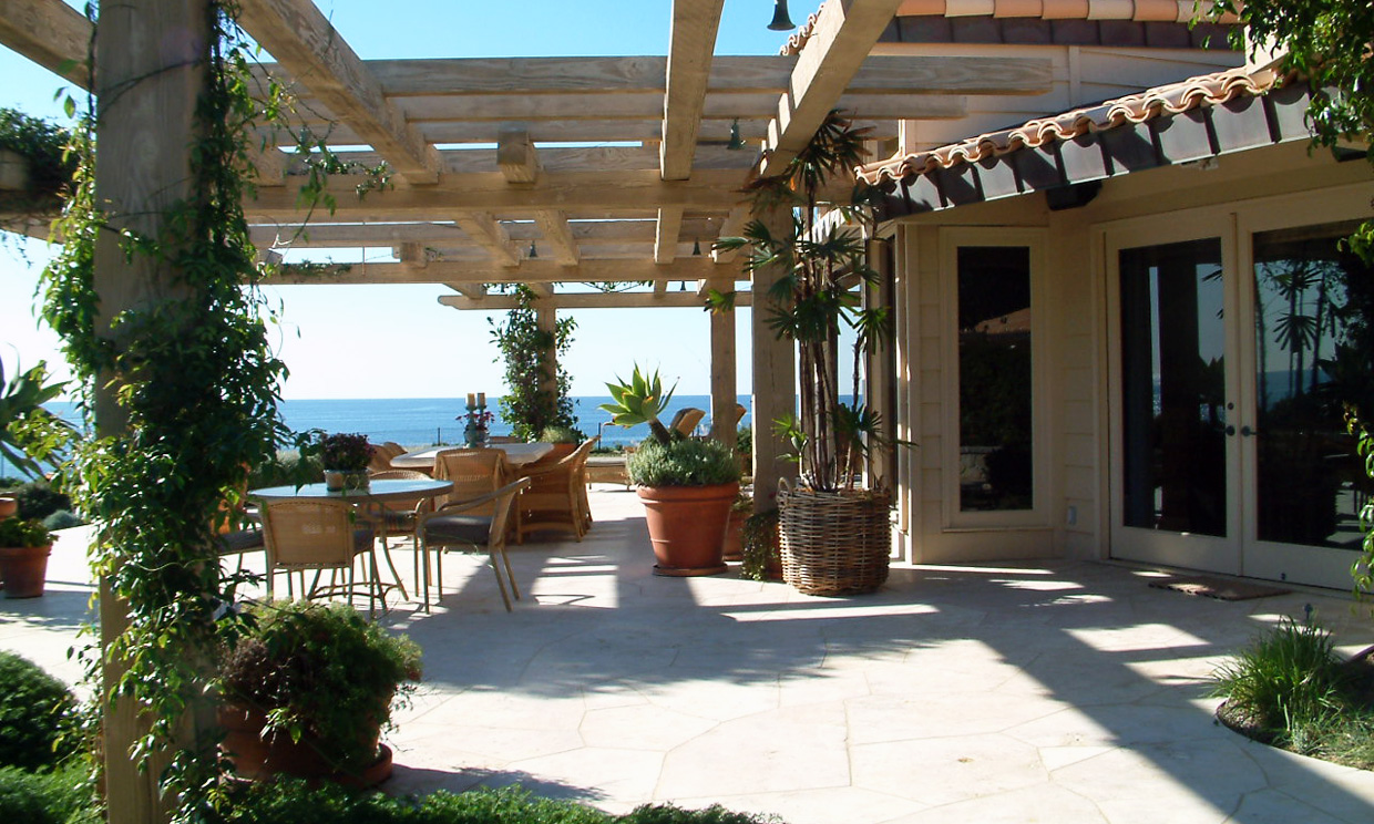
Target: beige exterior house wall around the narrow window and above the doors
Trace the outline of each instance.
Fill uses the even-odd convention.
[[[1349,203],[1345,217],[1353,218],[1370,214],[1371,196],[1367,163],[1337,163],[1293,143],[1227,155],[1210,170],[1173,166],[1106,180],[1079,209],[1051,211],[1036,194],[896,221],[897,431],[918,444],[899,460],[903,555],[916,563],[1110,556],[1106,232],[1256,216],[1301,225],[1312,222],[1304,220],[1312,205],[1330,202]],[[952,250],[1022,236],[1040,239],[1043,261],[1033,343],[1037,508],[976,523],[960,519],[951,500],[959,426]]]

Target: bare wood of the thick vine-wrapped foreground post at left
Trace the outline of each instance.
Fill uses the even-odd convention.
[[[99,294],[98,334],[115,336],[111,320],[124,310],[147,308],[170,294],[166,265],[151,255],[126,258],[118,229],[157,236],[164,211],[184,198],[190,181],[196,96],[205,84],[209,44],[206,0],[125,0],[100,7],[96,26],[95,93],[96,206],[110,229],[96,240],[95,288]],[[115,342],[118,346],[118,341]],[[115,402],[117,385],[96,383],[96,434],[117,435],[128,417]],[[111,641],[128,626],[125,604],[114,599],[109,581],[100,585],[100,641]],[[107,688],[126,665],[104,662]],[[140,772],[129,747],[148,720],[131,699],[121,698],[104,717],[104,784],[110,824],[147,824],[168,819],[158,797],[161,765]]]

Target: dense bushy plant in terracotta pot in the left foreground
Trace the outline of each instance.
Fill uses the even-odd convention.
[[[218,672],[223,747],[235,772],[386,780],[390,750],[379,736],[394,698],[420,677],[419,647],[346,604],[279,602],[247,618]]]

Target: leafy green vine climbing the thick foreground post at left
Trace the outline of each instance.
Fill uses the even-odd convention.
[[[228,607],[245,578],[214,560],[214,522],[223,503],[239,503],[247,467],[293,438],[276,408],[286,365],[268,343],[272,308],[257,287],[269,266],[256,262],[242,211],[261,148],[253,135],[282,125],[290,99],[273,81],[250,82],[251,44],[235,4],[212,1],[209,15],[188,195],[165,210],[155,236],[100,211],[92,100],[73,140],[78,169],[56,224],[63,244],[43,275],[44,319],[99,426],[63,471],[80,508],[102,525],[92,564],[128,621],[104,650],[103,689],[144,710],[150,726],[132,757],[143,766],[168,757],[161,780],[177,821],[206,820],[217,803],[213,736],[187,746],[177,732],[210,691],[217,651],[243,629]],[[99,25],[93,4],[88,16]],[[323,146],[302,154],[319,158],[302,199],[320,203],[338,163]],[[102,233],[117,235],[129,261],[162,284],[107,319],[95,283]]]

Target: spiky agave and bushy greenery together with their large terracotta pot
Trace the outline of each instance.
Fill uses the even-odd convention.
[[[617,378],[617,380],[620,380]],[[603,404],[611,423],[647,423],[650,437],[625,461],[644,501],[654,547],[655,575],[714,575],[725,571],[721,549],[730,507],[739,496],[739,459],[713,439],[683,438],[658,420],[665,394],[658,374],[639,367],[629,383],[607,383],[614,404]]]

